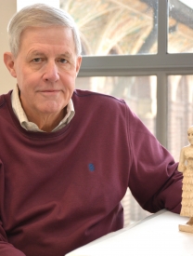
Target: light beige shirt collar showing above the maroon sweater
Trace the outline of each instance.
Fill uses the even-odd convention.
[[[12,103],[12,108],[15,113],[15,115],[19,119],[19,123],[22,128],[25,128],[27,130],[31,131],[42,131],[45,132],[44,130],[38,128],[38,126],[28,120],[27,115],[25,114],[21,102],[19,100],[19,88],[16,85],[16,87],[13,89],[12,95],[11,95],[11,103]],[[74,107],[73,107],[73,102],[70,101],[69,104],[67,105],[67,115],[64,116],[64,118],[60,121],[58,126],[52,130],[57,131],[60,128],[65,127],[67,124],[71,122],[71,118],[75,114],[74,112]]]

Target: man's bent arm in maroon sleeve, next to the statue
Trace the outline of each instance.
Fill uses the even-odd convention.
[[[177,163],[130,111],[128,121],[132,153],[129,187],[132,194],[141,207],[150,212],[169,209],[179,213],[183,176],[177,170]]]

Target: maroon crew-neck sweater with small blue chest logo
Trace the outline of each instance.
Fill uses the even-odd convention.
[[[127,186],[144,209],[180,211],[182,174],[125,102],[81,90],[72,101],[71,123],[41,133],[0,97],[2,256],[63,256],[122,228]]]

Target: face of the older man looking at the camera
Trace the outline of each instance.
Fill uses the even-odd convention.
[[[21,34],[11,74],[17,78],[27,115],[58,115],[71,99],[81,65],[71,29],[28,28]]]

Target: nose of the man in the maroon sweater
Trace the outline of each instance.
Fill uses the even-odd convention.
[[[59,79],[58,66],[55,61],[47,62],[45,65],[45,74],[43,78],[46,81],[57,82]]]

